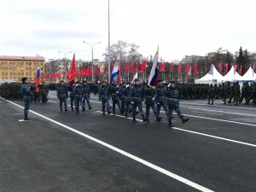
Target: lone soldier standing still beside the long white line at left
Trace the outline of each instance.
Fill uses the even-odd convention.
[[[22,78],[21,81],[22,81],[22,84],[20,86],[20,94],[21,96],[23,96],[23,101],[24,101],[24,120],[30,120],[27,118],[27,114],[30,106],[32,92],[26,83],[26,78]]]

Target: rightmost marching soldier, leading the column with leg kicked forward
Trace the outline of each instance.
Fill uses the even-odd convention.
[[[177,92],[177,88],[176,88],[176,85],[175,85],[175,81],[172,80],[171,81],[171,84],[169,84],[167,87],[166,87],[166,90],[164,91],[165,92],[165,95],[166,95],[166,102],[167,102],[167,106],[168,106],[168,109],[169,109],[169,126],[174,126],[172,125],[172,112],[173,110],[176,111],[177,113],[177,116],[182,120],[183,124],[186,123],[189,119],[185,119],[183,117],[183,114],[182,112],[180,111],[179,109],[179,97],[178,97],[178,92]]]

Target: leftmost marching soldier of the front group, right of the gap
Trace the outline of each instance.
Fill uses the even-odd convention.
[[[99,89],[99,100],[102,102],[102,112],[103,115],[106,115],[105,109],[107,108],[108,114],[110,114],[110,107],[109,107],[109,89],[106,81],[102,81],[102,85]]]

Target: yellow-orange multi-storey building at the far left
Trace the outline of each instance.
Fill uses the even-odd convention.
[[[41,56],[0,56],[0,79],[20,81],[26,77],[29,82],[36,82],[37,70],[44,76],[44,57]]]

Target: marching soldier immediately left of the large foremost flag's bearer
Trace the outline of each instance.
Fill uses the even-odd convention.
[[[131,100],[133,102],[132,122],[137,123],[137,120],[135,119],[135,117],[137,115],[137,113],[136,113],[137,108],[138,108],[139,112],[141,113],[143,122],[145,122],[146,119],[145,119],[145,115],[143,112],[143,96],[144,96],[143,86],[141,85],[141,82],[139,79],[135,79],[134,82],[135,82],[135,84],[131,87],[131,90],[130,90],[130,96],[131,96]]]

